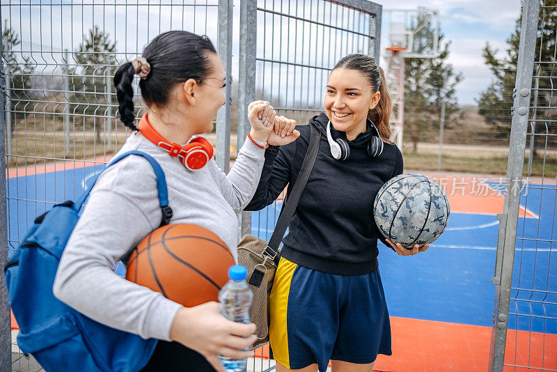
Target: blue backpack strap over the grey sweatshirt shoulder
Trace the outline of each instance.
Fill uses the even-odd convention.
[[[166,187],[166,177],[164,176],[164,172],[162,171],[161,166],[154,157],[138,150],[127,151],[127,153],[123,153],[122,155],[116,157],[116,159],[113,159],[103,171],[107,170],[109,166],[120,162],[120,160],[123,160],[129,155],[138,155],[144,157],[149,162],[149,164],[151,164],[152,170],[155,171],[155,176],[157,176],[157,190],[159,192],[159,206],[162,210],[162,222],[160,226],[167,225],[172,218],[172,208],[168,206],[168,189]],[[97,182],[97,179],[101,174],[102,172],[93,176],[93,182],[91,183],[91,185],[87,187],[86,191],[81,194],[79,199],[74,203],[74,208],[77,211],[79,211],[81,209],[81,206],[83,206],[83,203],[86,201],[89,193],[91,192],[91,189],[93,189],[93,186],[95,186],[95,183]]]

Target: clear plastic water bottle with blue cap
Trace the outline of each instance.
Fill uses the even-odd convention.
[[[246,283],[248,270],[242,265],[233,265],[228,269],[228,283],[219,292],[222,304],[222,315],[237,323],[249,324],[249,307],[253,293]],[[249,350],[249,349],[244,349]],[[247,359],[220,357],[226,372],[242,372],[246,370]]]

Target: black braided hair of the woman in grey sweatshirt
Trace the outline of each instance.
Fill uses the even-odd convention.
[[[161,33],[147,45],[142,56],[150,64],[146,79],[140,79],[141,97],[149,106],[167,103],[175,84],[195,79],[198,84],[210,73],[208,53],[217,53],[207,36],[188,31]],[[114,86],[120,110],[120,120],[125,126],[137,130],[134,124],[134,66],[131,62],[120,65],[114,75]]]

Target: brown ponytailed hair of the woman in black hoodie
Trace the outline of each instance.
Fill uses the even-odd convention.
[[[391,137],[391,126],[389,116],[391,116],[391,95],[387,89],[383,69],[377,65],[375,59],[366,54],[348,54],[338,61],[333,68],[346,68],[356,70],[365,75],[373,89],[373,93],[379,91],[381,98],[374,109],[368,112],[368,118],[377,126],[382,139],[389,140]]]

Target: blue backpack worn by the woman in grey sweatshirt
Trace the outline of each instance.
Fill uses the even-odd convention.
[[[172,210],[161,167],[150,155],[135,150],[122,154],[109,166],[128,155],[150,162],[157,176],[161,226],[168,224]],[[10,307],[19,325],[19,348],[26,355],[33,354],[49,372],[139,371],[157,345],[156,339],[142,339],[97,323],[52,293],[62,252],[93,185],[75,203],[66,201],[37,217],[5,268]]]

